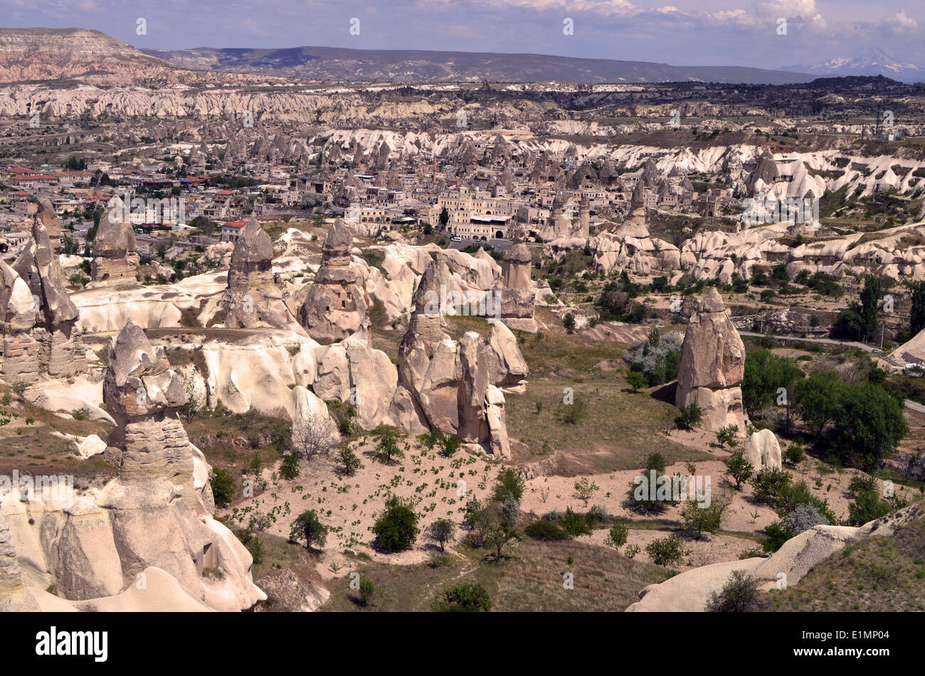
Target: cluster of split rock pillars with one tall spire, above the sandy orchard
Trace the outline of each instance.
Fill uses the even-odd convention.
[[[399,346],[399,378],[431,429],[484,443],[510,457],[504,395],[498,386],[522,386],[528,369],[512,332],[500,321],[487,339],[443,332],[440,287],[450,284],[446,264],[431,261],[414,292],[413,314]]]

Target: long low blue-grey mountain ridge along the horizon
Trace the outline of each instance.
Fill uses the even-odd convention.
[[[723,82],[788,84],[811,76],[793,71],[742,66],[669,66],[645,61],[580,59],[546,54],[431,52],[411,49],[285,49],[183,50],[144,49],[175,66],[232,73],[262,73],[290,78],[387,82],[502,82],[559,80],[567,82]]]

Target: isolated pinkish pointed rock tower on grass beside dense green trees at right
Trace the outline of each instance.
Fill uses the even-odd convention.
[[[737,425],[744,430],[740,385],[745,360],[745,345],[722,297],[712,288],[687,323],[675,404],[678,408],[697,404],[704,429]]]

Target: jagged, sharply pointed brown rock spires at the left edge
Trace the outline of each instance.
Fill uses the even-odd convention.
[[[58,228],[60,229],[60,226]],[[35,348],[38,355],[37,371],[46,372],[51,378],[66,378],[86,371],[87,358],[80,340],[80,332],[76,328],[80,313],[68,296],[58,255],[42,219],[36,218],[32,223],[32,241],[14,263],[13,272],[16,272],[28,287],[32,302],[30,311],[23,313],[23,316],[12,324],[10,321],[6,322],[7,326],[14,326],[12,334],[16,337],[13,340],[13,349],[9,352],[4,351],[4,361],[6,362],[6,356],[9,356],[15,362],[19,362],[19,367],[15,368],[23,375],[36,370],[23,363],[23,360],[35,354],[31,344],[23,336],[24,332],[29,331],[31,338],[38,344]],[[5,287],[8,278],[9,274],[6,272]],[[22,288],[17,286],[15,280],[10,284],[10,288],[12,291],[8,297],[16,299],[18,308],[25,308],[26,300]],[[6,311],[9,312],[8,304]],[[34,324],[31,329],[27,329],[26,325],[31,320],[32,312],[35,312]]]

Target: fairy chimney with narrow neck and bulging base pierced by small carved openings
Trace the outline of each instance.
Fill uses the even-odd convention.
[[[322,344],[365,333],[368,326],[366,295],[350,269],[352,241],[343,221],[335,220],[322,245],[321,267],[299,308],[302,326]]]

